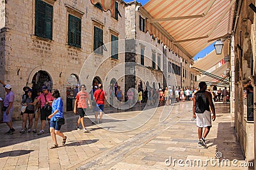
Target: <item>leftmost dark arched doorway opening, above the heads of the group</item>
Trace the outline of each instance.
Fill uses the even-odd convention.
[[[31,83],[33,92],[42,89],[44,85],[46,85],[49,90],[52,90],[52,78],[46,71],[37,71]]]

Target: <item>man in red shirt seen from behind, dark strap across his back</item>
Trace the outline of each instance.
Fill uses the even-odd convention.
[[[102,116],[103,116],[103,110],[104,110],[104,103],[106,98],[106,92],[103,90],[102,84],[99,84],[99,89],[94,92],[93,99],[97,103],[97,107],[100,111],[100,121],[99,124],[102,123]],[[98,121],[98,113],[95,112],[95,122]]]

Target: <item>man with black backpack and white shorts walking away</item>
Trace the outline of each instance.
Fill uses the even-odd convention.
[[[198,146],[206,147],[205,138],[212,127],[211,120],[214,121],[216,116],[212,95],[210,92],[205,91],[207,89],[205,81],[201,81],[199,87],[200,90],[193,97],[193,118],[196,118],[196,125],[198,126]],[[212,117],[210,106],[213,113]],[[203,128],[205,130],[202,135]]]

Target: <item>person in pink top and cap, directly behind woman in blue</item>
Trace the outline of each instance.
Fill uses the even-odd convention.
[[[52,97],[51,92],[49,92],[47,86],[42,87],[43,93],[40,94],[40,96],[30,104],[33,104],[35,106],[36,103],[41,101],[41,110],[40,110],[40,118],[41,118],[41,130],[38,132],[38,135],[44,134],[44,128],[45,128],[45,120],[49,115],[51,115],[52,112],[52,101],[54,100],[54,97]],[[50,125],[50,119],[48,120],[48,124]]]

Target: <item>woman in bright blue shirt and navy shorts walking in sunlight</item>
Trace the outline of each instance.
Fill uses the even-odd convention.
[[[63,120],[63,101],[60,97],[59,90],[54,90],[52,93],[52,96],[54,97],[54,101],[52,102],[52,114],[49,115],[48,118],[51,119],[50,123],[50,132],[51,137],[53,141],[53,145],[51,146],[51,149],[58,148],[59,145],[57,143],[56,134],[62,138],[62,145],[65,145],[67,141],[67,136],[63,134],[63,132],[60,131],[61,124],[60,120]]]

